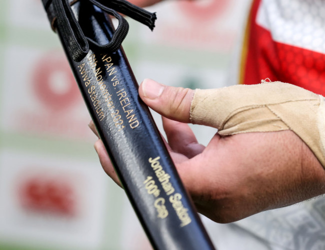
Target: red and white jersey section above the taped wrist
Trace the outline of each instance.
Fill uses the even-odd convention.
[[[325,1],[253,0],[239,83],[261,79],[325,95]]]

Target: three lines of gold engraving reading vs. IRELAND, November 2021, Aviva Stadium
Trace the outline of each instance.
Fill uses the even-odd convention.
[[[126,124],[131,129],[138,127],[140,123],[132,108],[131,99],[123,86],[118,87],[121,81],[118,79],[117,67],[111,56],[101,54],[97,59],[94,54],[89,54],[86,58],[88,66],[86,63],[80,63],[78,70],[99,121],[109,117],[110,114],[117,131],[122,131],[127,126]],[[98,63],[98,60],[101,60],[101,63]],[[113,96],[118,99],[115,103]],[[103,111],[107,108],[108,114]]]

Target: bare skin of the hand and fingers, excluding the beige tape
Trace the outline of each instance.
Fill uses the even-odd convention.
[[[152,80],[139,87],[141,99],[162,115],[170,155],[199,213],[228,223],[325,193],[324,169],[290,130],[215,134],[206,147],[198,144],[186,124],[193,93]],[[100,140],[95,149],[118,184]]]

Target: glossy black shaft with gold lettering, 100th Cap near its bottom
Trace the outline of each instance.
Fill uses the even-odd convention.
[[[69,34],[55,25],[52,4],[62,0],[42,1],[98,134],[152,247],[213,250],[150,112],[138,96],[138,85],[122,48],[107,52],[90,46],[84,58],[72,59],[66,45]],[[73,3],[71,8],[87,37],[99,44],[111,39],[114,28],[100,8],[88,0]]]

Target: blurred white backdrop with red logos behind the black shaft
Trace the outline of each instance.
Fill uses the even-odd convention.
[[[249,3],[164,1],[148,8],[154,32],[130,20],[123,47],[138,82],[235,83]],[[151,249],[101,169],[89,120],[41,1],[0,0],[0,250]],[[192,127],[202,144],[215,133]],[[203,222],[219,249],[231,241],[229,226]]]

